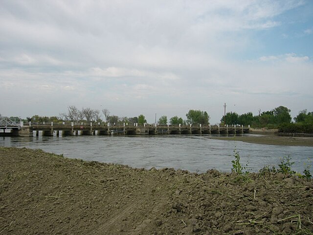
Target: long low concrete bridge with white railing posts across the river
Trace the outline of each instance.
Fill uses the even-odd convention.
[[[7,126],[1,134],[10,133],[11,136],[30,137],[34,134],[39,136],[72,136],[72,135],[191,135],[191,134],[243,134],[248,133],[250,126],[239,125],[156,125],[128,123],[112,125],[111,123],[94,123],[94,122],[43,122],[43,123],[15,123],[16,125]],[[5,128],[1,127],[2,130]]]

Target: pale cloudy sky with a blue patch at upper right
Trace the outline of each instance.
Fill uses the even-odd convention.
[[[313,0],[1,0],[0,114],[313,111]]]

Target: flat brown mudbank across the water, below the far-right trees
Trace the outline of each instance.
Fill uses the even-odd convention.
[[[247,143],[287,145],[287,146],[313,146],[313,137],[286,137],[277,135],[250,135],[235,137],[211,137],[210,139],[222,141],[243,141]]]

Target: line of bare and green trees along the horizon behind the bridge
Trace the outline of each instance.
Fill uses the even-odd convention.
[[[251,127],[268,127],[268,128],[278,128],[282,124],[292,124],[291,121],[291,110],[284,106],[278,106],[270,111],[262,112],[259,110],[258,115],[253,115],[252,112],[245,114],[237,114],[236,112],[228,112],[221,118],[221,125],[250,125]],[[103,116],[102,116],[103,115]],[[102,119],[104,117],[104,119]],[[210,116],[206,111],[201,110],[189,110],[186,114],[186,118],[183,119],[178,116],[172,118],[167,118],[167,116],[161,116],[157,120],[159,125],[178,125],[178,124],[209,124]],[[300,124],[313,125],[313,112],[308,112],[307,110],[302,110],[299,114],[293,118],[294,123],[298,126]],[[27,117],[27,121],[32,122],[62,122],[62,121],[73,121],[73,122],[110,122],[110,123],[147,123],[147,120],[143,114],[137,117],[118,117],[116,115],[111,115],[108,109],[95,110],[91,108],[82,108],[79,110],[76,106],[68,106],[67,113],[62,113],[53,117],[41,117],[34,115],[31,118]]]

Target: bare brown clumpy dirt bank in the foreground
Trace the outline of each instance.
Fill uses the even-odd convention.
[[[313,234],[312,222],[312,180],[243,182],[0,147],[1,235]]]

